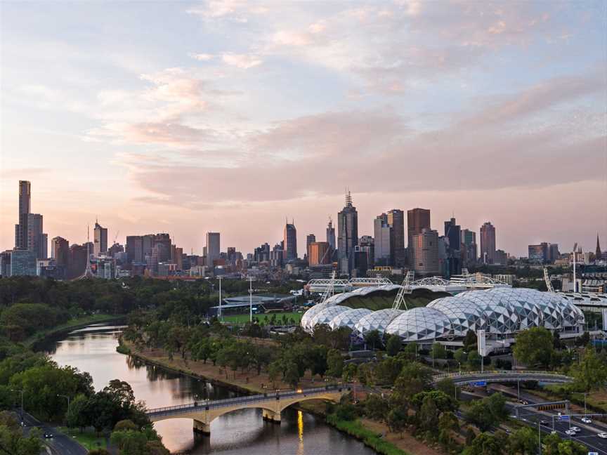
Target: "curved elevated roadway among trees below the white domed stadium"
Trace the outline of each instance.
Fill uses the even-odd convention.
[[[541,383],[563,384],[573,381],[570,376],[552,373],[551,371],[466,371],[465,373],[437,374],[433,376],[432,382],[438,383],[441,379],[448,378],[456,385],[474,385],[502,382],[537,381]]]

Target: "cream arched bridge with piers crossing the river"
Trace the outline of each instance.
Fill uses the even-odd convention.
[[[280,423],[280,413],[292,404],[306,400],[326,400],[339,402],[342,396],[350,393],[348,386],[331,386],[289,390],[280,393],[265,393],[246,397],[228,398],[226,400],[202,401],[178,406],[148,409],[150,421],[157,422],[167,418],[192,418],[194,431],[204,435],[211,434],[211,422],[217,417],[238,409],[262,409],[263,419]]]

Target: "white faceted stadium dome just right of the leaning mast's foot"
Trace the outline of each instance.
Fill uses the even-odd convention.
[[[386,334],[408,341],[426,341],[448,336],[451,322],[445,313],[434,308],[413,308],[396,317],[386,328]]]

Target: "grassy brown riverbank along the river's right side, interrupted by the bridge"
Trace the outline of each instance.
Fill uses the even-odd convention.
[[[214,366],[210,362],[204,364],[203,362],[183,360],[178,355],[171,359],[162,349],[150,348],[137,350],[133,343],[122,338],[120,339],[120,344],[116,350],[122,354],[131,355],[131,357],[141,360],[142,362],[194,378],[200,378],[210,383],[216,383],[217,385],[240,393],[263,393],[267,389],[264,389],[262,385],[271,385],[268,375],[264,372],[258,376],[256,374],[250,375],[246,371],[239,371],[235,374],[233,371],[229,371],[228,377],[226,377],[226,371],[224,369]],[[324,381],[312,381],[309,374],[307,374],[303,383],[301,383],[301,386],[306,388],[322,387],[324,385]],[[276,388],[290,389],[289,385],[282,383],[281,381],[276,381],[275,386]],[[442,452],[427,447],[426,444],[419,442],[412,435],[408,435],[407,433],[403,433],[403,435],[390,433],[384,423],[368,421],[367,419],[360,419],[356,421],[355,424],[337,421],[336,419],[331,418],[332,416],[327,416],[327,413],[325,412],[325,402],[320,400],[310,400],[308,402],[299,403],[295,408],[310,414],[325,417],[328,425],[355,437],[379,454],[442,455]]]

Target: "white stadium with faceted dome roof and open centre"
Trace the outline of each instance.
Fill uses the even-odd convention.
[[[311,334],[319,324],[331,329],[348,327],[359,338],[377,330],[396,334],[403,343],[453,346],[463,345],[468,331],[483,330],[491,349],[491,345],[507,348],[518,331],[530,327],[558,331],[561,338],[579,336],[585,323],[582,310],[550,292],[508,286],[455,296],[429,291],[422,296],[407,296],[407,309],[402,310],[392,305],[398,289],[400,286],[388,284],[331,296],[304,313],[301,327]]]

